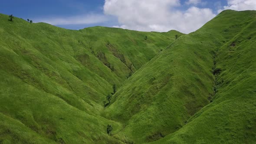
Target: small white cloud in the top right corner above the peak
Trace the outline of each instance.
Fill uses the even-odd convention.
[[[227,6],[218,10],[220,13],[222,10],[256,10],[256,0],[227,0]]]

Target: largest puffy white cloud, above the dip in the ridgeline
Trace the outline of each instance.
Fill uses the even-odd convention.
[[[193,0],[191,0],[192,2]],[[116,16],[123,29],[190,33],[216,16],[211,9],[178,10],[180,0],[105,0],[104,13]]]

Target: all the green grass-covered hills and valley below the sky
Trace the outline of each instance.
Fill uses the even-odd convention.
[[[0,14],[0,143],[255,143],[255,46],[256,11],[188,35]]]

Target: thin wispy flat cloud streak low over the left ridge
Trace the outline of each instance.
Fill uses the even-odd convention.
[[[56,17],[36,19],[35,22],[44,22],[52,25],[71,25],[71,24],[94,24],[108,21],[108,16],[103,14],[89,14],[70,17]]]

